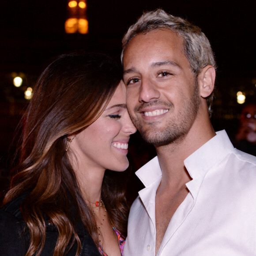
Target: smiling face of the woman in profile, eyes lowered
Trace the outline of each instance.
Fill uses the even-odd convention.
[[[126,109],[125,93],[121,82],[102,115],[75,135],[70,149],[78,159],[78,169],[124,171],[128,168],[128,141],[136,128]]]

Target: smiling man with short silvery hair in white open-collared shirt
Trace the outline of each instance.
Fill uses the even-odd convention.
[[[124,256],[256,255],[256,158],[215,133],[215,60],[201,30],[162,10],[123,39],[127,106],[158,156],[137,176]]]

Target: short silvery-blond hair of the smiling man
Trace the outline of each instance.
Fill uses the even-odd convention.
[[[200,28],[180,17],[175,17],[166,13],[162,9],[143,13],[137,22],[130,26],[122,41],[123,50],[121,53],[121,61],[123,62],[125,49],[132,38],[137,34],[147,34],[153,30],[161,29],[171,30],[181,36],[184,44],[184,55],[186,56],[195,77],[207,65],[212,65],[216,69],[215,57],[211,49],[211,44]],[[212,112],[211,106],[213,98],[213,93],[207,97],[210,116]]]

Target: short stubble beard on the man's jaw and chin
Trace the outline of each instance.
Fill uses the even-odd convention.
[[[143,126],[142,122],[136,116],[132,117],[131,115],[133,123],[147,143],[151,143],[155,147],[160,147],[170,143],[179,142],[184,139],[196,119],[200,105],[197,79],[195,79],[192,97],[186,98],[181,95],[181,98],[184,103],[184,107],[177,116],[173,116],[164,127],[158,127],[159,124],[161,126],[161,121],[149,122],[147,125]],[[167,104],[165,103],[165,105]],[[169,112],[173,111],[173,104],[169,103],[168,105]]]

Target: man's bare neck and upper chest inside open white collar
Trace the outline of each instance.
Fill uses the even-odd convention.
[[[155,199],[155,254],[159,250],[173,214],[188,195],[186,183],[192,178],[184,166],[184,160],[216,135],[210,121],[202,127],[203,129],[195,129],[195,131],[192,127],[179,141],[156,148],[162,169],[162,181]]]

